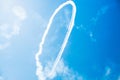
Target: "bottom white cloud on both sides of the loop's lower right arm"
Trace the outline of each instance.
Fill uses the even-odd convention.
[[[46,80],[48,79],[48,74],[51,71],[51,67],[53,65],[53,61],[47,63],[47,65],[43,68],[41,75],[39,75],[39,80]],[[77,72],[70,69],[66,66],[63,60],[60,60],[54,73],[49,76],[50,80],[54,80],[55,78],[60,77],[61,80],[83,80],[83,77],[80,76]]]

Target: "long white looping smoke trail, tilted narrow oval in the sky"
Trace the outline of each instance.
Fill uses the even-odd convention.
[[[43,45],[44,45],[46,36],[47,36],[48,31],[49,31],[49,29],[50,29],[50,27],[51,27],[51,24],[52,24],[52,21],[53,21],[54,17],[55,17],[56,14],[57,14],[62,8],[64,8],[66,5],[72,5],[72,7],[73,7],[71,21],[70,21],[70,24],[69,24],[69,26],[68,26],[68,31],[67,31],[67,33],[66,33],[66,35],[65,35],[65,39],[64,39],[63,44],[62,44],[62,46],[61,46],[61,49],[60,49],[60,51],[59,51],[59,53],[58,53],[58,56],[57,56],[57,58],[55,59],[55,62],[54,62],[54,64],[53,64],[53,67],[52,67],[50,73],[48,73],[48,75],[46,75],[46,74],[43,72],[43,66],[42,66],[41,62],[39,61],[39,57],[40,57],[40,55],[42,54]],[[52,14],[52,16],[50,17],[50,20],[49,20],[49,23],[48,23],[48,25],[47,25],[47,28],[46,28],[46,30],[45,30],[45,32],[44,32],[44,34],[43,34],[42,40],[41,40],[41,42],[40,42],[40,44],[39,44],[39,51],[38,51],[38,52],[36,53],[36,55],[35,55],[36,67],[37,67],[37,69],[36,69],[36,75],[38,76],[38,79],[39,79],[39,80],[46,80],[46,78],[50,78],[50,77],[53,75],[53,73],[54,73],[54,71],[55,71],[55,69],[56,69],[56,66],[57,66],[58,62],[60,61],[61,56],[62,56],[62,54],[63,54],[63,51],[64,51],[64,49],[65,49],[65,47],[66,47],[66,44],[67,44],[67,42],[68,42],[68,38],[69,38],[69,36],[70,36],[70,33],[71,33],[72,29],[73,29],[75,16],[76,16],[76,5],[75,5],[75,3],[74,3],[72,0],[69,0],[69,1],[66,1],[66,2],[64,2],[63,4],[61,4],[61,5],[54,11],[54,13]]]

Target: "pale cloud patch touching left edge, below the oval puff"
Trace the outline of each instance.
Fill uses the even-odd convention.
[[[20,33],[20,26],[14,24],[12,26],[8,24],[3,24],[0,26],[0,49],[5,49],[10,45],[10,39]],[[4,40],[4,41],[3,41]]]

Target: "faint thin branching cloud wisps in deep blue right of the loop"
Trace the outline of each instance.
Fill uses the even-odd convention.
[[[98,20],[108,12],[109,8],[110,8],[109,5],[102,6],[97,11],[96,15],[89,20],[89,23],[87,25],[80,24],[79,26],[76,26],[76,29],[84,31],[89,35],[92,42],[96,42],[97,40],[95,38],[95,33],[92,30],[87,29],[87,27],[96,26],[96,24],[98,23]]]

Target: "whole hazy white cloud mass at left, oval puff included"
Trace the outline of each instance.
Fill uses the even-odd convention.
[[[10,10],[9,13],[6,12],[10,19],[8,18],[7,21],[0,24],[0,38],[4,40],[4,43],[0,42],[0,49],[8,47],[10,45],[10,39],[20,34],[21,24],[27,18],[27,12],[22,6],[13,6]],[[10,17],[11,15],[13,15],[13,18]]]

